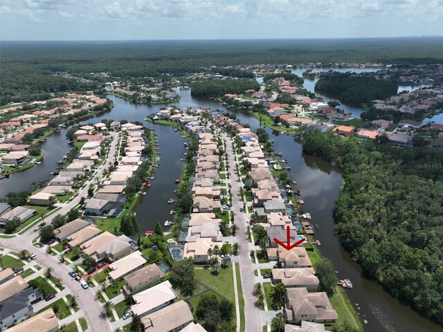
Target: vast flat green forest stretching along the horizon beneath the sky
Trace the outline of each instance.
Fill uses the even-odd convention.
[[[94,42],[1,42],[0,105],[42,100],[44,92],[90,91],[109,77],[186,75],[210,66],[321,62],[439,63],[439,38],[274,39]],[[52,76],[66,72],[92,84]],[[230,75],[239,76],[232,72]],[[241,77],[250,74],[242,73]]]

